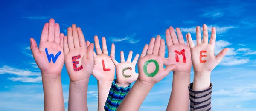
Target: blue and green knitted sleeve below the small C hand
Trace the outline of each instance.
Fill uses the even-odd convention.
[[[118,87],[116,85],[116,79],[113,80],[111,88],[109,90],[107,101],[104,106],[105,111],[116,111],[116,109],[125,98],[126,94],[128,94],[130,89],[131,84],[126,88]]]

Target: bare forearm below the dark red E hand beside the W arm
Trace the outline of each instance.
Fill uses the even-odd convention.
[[[88,111],[88,82],[89,80],[70,81],[68,111]]]

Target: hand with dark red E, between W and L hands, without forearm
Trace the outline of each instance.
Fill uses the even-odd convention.
[[[81,28],[76,28],[76,25],[73,24],[72,28],[67,29],[63,48],[70,81],[89,80],[94,65],[93,43],[87,48]]]

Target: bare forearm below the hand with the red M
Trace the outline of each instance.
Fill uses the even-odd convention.
[[[173,74],[172,93],[166,111],[188,111],[190,73]]]

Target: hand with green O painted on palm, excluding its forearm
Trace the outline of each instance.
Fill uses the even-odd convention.
[[[147,55],[146,55],[147,52]],[[158,35],[157,39],[152,38],[149,46],[145,45],[138,62],[138,80],[155,84],[166,77],[170,71],[177,69],[177,65],[171,64],[163,68],[165,54],[165,43]]]

